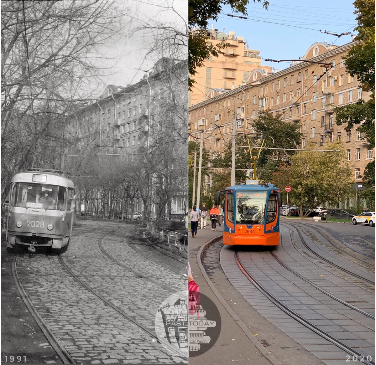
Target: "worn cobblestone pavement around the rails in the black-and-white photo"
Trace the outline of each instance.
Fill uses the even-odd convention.
[[[112,231],[116,236],[111,235]],[[159,305],[175,288],[184,290],[186,278],[158,267],[135,252],[126,243],[130,232],[133,232],[131,225],[85,223],[74,230],[68,250],[61,258],[91,290],[155,332]],[[121,234],[124,234],[123,240],[119,237]],[[104,255],[99,249],[99,240],[106,252],[123,262],[123,266]],[[138,277],[137,271],[143,277]],[[186,357],[171,353],[152,335],[86,290],[62,267],[58,256],[20,255],[17,272],[33,305],[74,360],[186,362]],[[170,286],[171,291],[159,287],[158,282]]]

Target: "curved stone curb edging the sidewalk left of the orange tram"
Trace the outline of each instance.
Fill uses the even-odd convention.
[[[268,351],[265,349],[265,347],[253,336],[253,333],[249,330],[249,328],[246,326],[246,324],[238,317],[238,315],[230,308],[230,306],[227,304],[227,302],[223,299],[219,291],[215,288],[214,284],[209,279],[209,276],[206,274],[205,268],[203,267],[201,263],[201,258],[203,255],[203,252],[211,246],[213,243],[219,241],[222,239],[222,236],[215,237],[211,239],[210,241],[203,244],[199,252],[197,252],[197,264],[200,267],[201,273],[208,283],[209,287],[215,294],[215,296],[218,298],[218,300],[221,302],[221,304],[224,306],[227,312],[229,312],[230,316],[233,318],[233,320],[238,324],[238,326],[243,330],[244,334],[247,336],[247,338],[252,342],[252,344],[260,351],[262,356],[264,356],[272,365],[281,365],[281,363],[271,354],[268,353]]]

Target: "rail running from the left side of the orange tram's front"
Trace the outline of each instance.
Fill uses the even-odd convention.
[[[362,363],[365,363],[367,365],[374,365],[375,362],[374,361],[369,361],[367,360],[367,356],[364,356],[363,354],[359,353],[358,351],[354,350],[352,347],[346,345],[345,343],[343,343],[342,341],[336,339],[335,337],[333,337],[332,335],[330,335],[329,333],[321,330],[318,326],[315,326],[314,324],[312,324],[311,322],[309,322],[308,320],[306,320],[305,318],[303,318],[302,316],[300,316],[299,314],[297,314],[296,312],[292,311],[290,308],[288,308],[286,305],[284,305],[282,302],[280,302],[276,297],[274,297],[271,293],[269,293],[264,287],[262,287],[262,285],[260,285],[258,283],[258,281],[256,281],[255,278],[253,278],[252,275],[250,275],[250,273],[247,271],[247,269],[244,267],[244,265],[242,264],[240,258],[239,258],[239,255],[238,255],[238,252],[235,251],[234,252],[234,257],[235,257],[235,261],[239,267],[239,269],[243,272],[244,276],[262,293],[265,295],[265,297],[267,297],[274,305],[276,305],[278,308],[280,308],[282,311],[284,311],[287,315],[289,315],[290,317],[294,318],[296,321],[298,321],[299,323],[303,324],[305,327],[309,328],[310,330],[312,330],[313,332],[317,333],[318,335],[320,335],[321,337],[323,337],[324,339],[326,339],[327,341],[330,341],[332,342],[332,344],[336,345],[337,347],[341,348],[341,350],[344,350],[346,351],[348,354],[350,354],[351,356],[355,356],[357,360],[359,360],[359,362],[362,362]]]

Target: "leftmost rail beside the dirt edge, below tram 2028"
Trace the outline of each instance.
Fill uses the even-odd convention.
[[[17,287],[18,292],[21,295],[22,300],[24,301],[25,305],[27,306],[27,309],[29,309],[29,312],[35,319],[36,323],[38,324],[39,328],[43,332],[44,336],[47,338],[47,341],[50,343],[52,348],[55,350],[56,354],[60,357],[61,361],[64,364],[67,363],[73,363],[76,364],[77,362],[73,359],[73,357],[70,356],[67,350],[65,350],[64,346],[61,344],[61,342],[56,338],[56,336],[52,333],[52,331],[49,329],[43,318],[39,315],[36,308],[33,306],[31,300],[29,299],[29,296],[27,296],[26,291],[24,290],[23,285],[21,284],[20,277],[17,273],[17,258],[18,253],[13,256],[12,260],[12,275]],[[80,363],[80,362],[79,362]]]

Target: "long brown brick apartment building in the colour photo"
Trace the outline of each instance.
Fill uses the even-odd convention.
[[[231,143],[234,119],[236,133],[252,133],[259,112],[269,110],[282,115],[285,121],[299,123],[303,137],[298,148],[304,149],[308,143],[322,146],[340,140],[353,166],[354,189],[358,189],[374,151],[355,128],[347,132],[343,125],[334,122],[334,107],[369,99],[356,77],[346,73],[343,57],[354,44],[337,47],[316,42],[301,62],[282,71],[267,74],[256,69],[245,85],[227,92],[210,90],[211,98],[188,109],[190,140],[201,136],[206,149],[221,154]],[[323,63],[332,66],[325,68]],[[351,205],[352,201],[346,201],[338,207]]]

